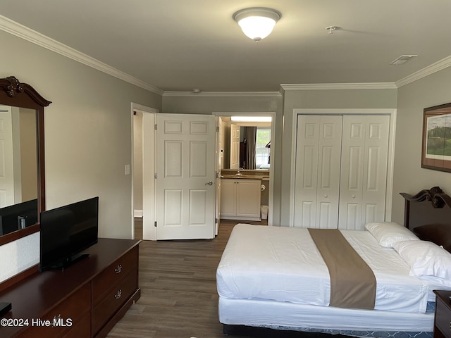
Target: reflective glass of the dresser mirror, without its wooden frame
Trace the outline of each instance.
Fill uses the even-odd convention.
[[[37,223],[36,130],[34,109],[0,106],[0,235]]]

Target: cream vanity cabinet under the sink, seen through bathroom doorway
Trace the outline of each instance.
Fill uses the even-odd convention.
[[[261,220],[261,180],[221,180],[221,214],[223,220]]]

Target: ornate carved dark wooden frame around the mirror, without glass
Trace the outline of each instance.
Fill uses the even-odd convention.
[[[37,223],[0,236],[0,245],[3,245],[39,231],[39,215],[45,210],[44,107],[51,101],[44,99],[30,84],[8,76],[0,79],[0,104],[35,109],[37,137]]]

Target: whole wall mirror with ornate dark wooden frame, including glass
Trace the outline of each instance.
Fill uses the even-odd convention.
[[[13,76],[0,79],[0,245],[39,231],[45,210],[44,99]]]

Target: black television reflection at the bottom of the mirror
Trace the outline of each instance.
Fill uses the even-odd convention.
[[[37,199],[0,208],[0,235],[37,223]]]

